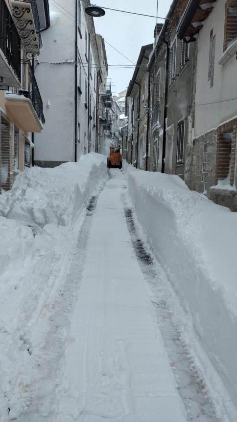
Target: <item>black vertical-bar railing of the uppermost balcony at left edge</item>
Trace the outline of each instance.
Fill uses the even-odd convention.
[[[21,79],[21,39],[4,0],[0,0],[0,49]]]

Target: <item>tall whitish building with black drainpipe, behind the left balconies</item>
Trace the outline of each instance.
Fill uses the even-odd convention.
[[[35,162],[41,166],[78,161],[98,151],[99,86],[106,79],[107,60],[93,18],[85,13],[88,5],[89,0],[51,5],[54,23],[43,33],[47,48],[35,70],[47,105],[44,133],[35,140]]]

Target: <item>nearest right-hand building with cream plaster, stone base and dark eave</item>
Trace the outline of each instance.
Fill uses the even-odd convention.
[[[185,181],[237,211],[237,1],[217,0],[199,10],[193,3],[187,5],[178,27],[178,36],[197,51],[195,120]]]

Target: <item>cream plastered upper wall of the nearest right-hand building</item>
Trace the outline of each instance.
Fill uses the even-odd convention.
[[[218,61],[223,53],[225,1],[217,0],[214,9],[205,21],[198,37],[197,81],[195,98],[195,136],[206,133],[222,122],[237,114],[237,100],[214,103],[237,98],[237,61],[236,54],[225,65]],[[214,83],[208,80],[210,32],[215,35]]]

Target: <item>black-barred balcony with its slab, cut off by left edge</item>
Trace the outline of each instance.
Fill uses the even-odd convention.
[[[0,0],[0,89],[21,86],[21,40],[4,0]]]

